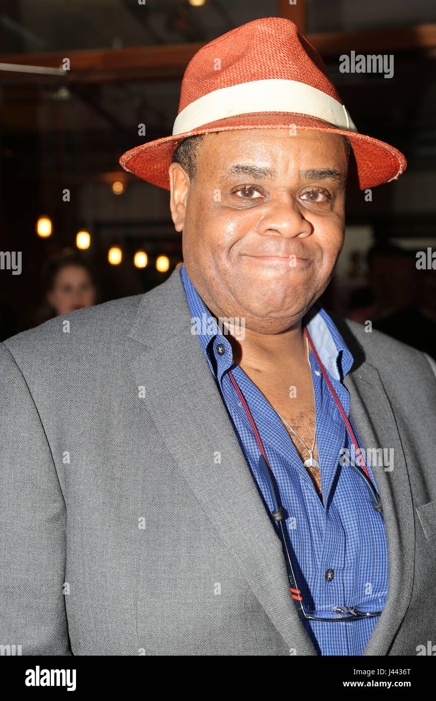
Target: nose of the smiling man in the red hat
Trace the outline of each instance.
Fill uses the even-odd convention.
[[[258,223],[258,232],[265,235],[277,233],[283,238],[309,236],[314,227],[304,217],[302,205],[298,205],[290,194],[273,198],[265,207],[264,215]]]

